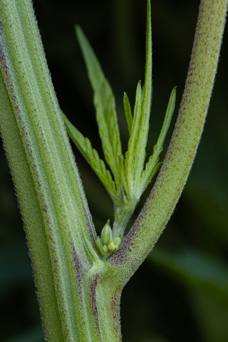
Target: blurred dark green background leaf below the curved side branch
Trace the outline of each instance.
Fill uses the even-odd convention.
[[[228,305],[228,270],[221,260],[189,248],[175,254],[155,248],[148,260],[188,288],[222,299]]]

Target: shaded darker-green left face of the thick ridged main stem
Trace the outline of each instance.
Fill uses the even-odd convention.
[[[0,131],[4,142],[32,258],[33,272],[47,341],[63,341],[45,227],[21,135],[0,74]],[[21,175],[23,175],[21,177]],[[39,236],[39,243],[37,237]],[[59,339],[59,340],[58,340]]]

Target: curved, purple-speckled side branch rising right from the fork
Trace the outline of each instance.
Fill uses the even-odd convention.
[[[186,86],[172,139],[145,206],[110,262],[123,284],[144,261],[164,230],[194,161],[209,106],[228,0],[201,1]]]

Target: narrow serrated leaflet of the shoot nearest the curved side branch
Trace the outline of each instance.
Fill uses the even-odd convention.
[[[169,97],[168,105],[166,108],[165,119],[164,119],[162,129],[157,140],[157,144],[154,145],[153,154],[149,157],[149,160],[145,165],[145,170],[143,171],[143,174],[142,174],[141,193],[144,192],[145,188],[151,181],[152,177],[158,170],[159,166],[162,164],[162,163],[158,163],[159,155],[163,150],[163,144],[166,138],[166,133],[170,126],[173,111],[175,108],[175,100],[176,100],[176,86],[172,89],[170,97]]]

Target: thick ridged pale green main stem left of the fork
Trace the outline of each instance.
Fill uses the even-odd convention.
[[[45,335],[48,341],[92,341],[96,321],[91,305],[87,308],[82,275],[99,261],[96,233],[31,1],[0,1],[0,21],[1,134],[21,206]]]

